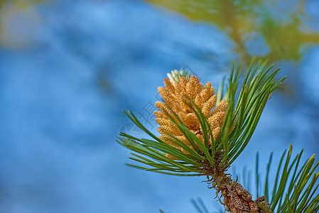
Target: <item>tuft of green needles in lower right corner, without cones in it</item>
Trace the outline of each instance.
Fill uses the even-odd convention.
[[[272,153],[266,167],[266,181],[264,183],[265,200],[271,204],[271,210],[277,213],[303,212],[313,213],[319,210],[319,173],[315,173],[319,162],[314,164],[314,155],[311,156],[302,166],[300,166],[301,155],[298,153],[295,158],[291,158],[292,146],[283,152],[279,162],[274,187],[271,196],[269,195],[269,171],[272,160]],[[286,156],[286,157],[285,157]],[[258,168],[258,155],[256,158],[256,168]],[[256,177],[259,177],[256,170]],[[256,182],[257,194],[260,182]],[[258,197],[259,195],[257,195]]]

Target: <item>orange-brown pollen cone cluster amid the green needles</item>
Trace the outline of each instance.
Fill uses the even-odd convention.
[[[164,79],[165,87],[158,87],[158,92],[163,97],[163,102],[156,102],[155,105],[160,111],[154,111],[156,116],[156,122],[160,125],[158,127],[158,132],[161,133],[159,138],[168,143],[169,145],[180,149],[183,153],[188,154],[188,151],[185,151],[184,148],[176,145],[172,142],[171,138],[167,135],[173,135],[175,138],[178,138],[180,141],[185,143],[188,147],[191,146],[188,139],[183,135],[182,131],[178,129],[173,121],[171,121],[170,116],[178,121],[175,118],[171,109],[178,115],[179,119],[183,124],[197,136],[202,143],[204,142],[204,137],[202,127],[200,126],[200,121],[196,116],[195,112],[188,106],[191,104],[190,100],[193,100],[195,104],[200,108],[202,114],[206,117],[208,124],[212,130],[212,135],[214,141],[217,140],[220,135],[220,129],[225,120],[225,115],[227,111],[227,102],[222,100],[218,106],[216,106],[217,97],[214,94],[214,88],[207,82],[205,86],[200,83],[198,77],[191,76],[190,80],[187,80],[185,77],[181,77],[179,82],[172,82],[168,78]],[[195,108],[195,106],[193,106]],[[215,109],[214,109],[215,108]],[[212,138],[208,138],[208,143],[212,145]],[[166,157],[173,158],[172,155],[166,154]]]

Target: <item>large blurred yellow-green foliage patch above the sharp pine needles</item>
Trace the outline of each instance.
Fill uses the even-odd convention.
[[[270,61],[297,61],[303,54],[301,50],[319,43],[319,32],[307,23],[311,17],[306,13],[305,0],[146,1],[177,11],[192,21],[217,26],[236,44],[239,59],[247,63],[251,55]],[[259,46],[266,50],[259,51]],[[254,53],[252,48],[256,49]]]

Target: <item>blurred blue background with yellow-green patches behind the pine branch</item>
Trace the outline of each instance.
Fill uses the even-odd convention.
[[[239,182],[257,151],[261,175],[289,143],[318,153],[319,2],[181,2],[0,1],[0,212],[196,212],[198,197],[217,211],[205,178],[129,168],[114,142],[143,136],[121,109],[156,132],[157,87],[181,67],[214,87],[252,56],[288,75],[231,168]]]

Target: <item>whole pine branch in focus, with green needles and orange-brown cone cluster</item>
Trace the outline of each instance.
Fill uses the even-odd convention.
[[[307,190],[304,190],[306,180],[314,171],[310,170],[313,157],[303,165],[302,170],[297,172],[295,169],[294,181],[288,186],[285,199],[283,192],[293,166],[288,164],[291,150],[283,165],[283,175],[279,177],[279,172],[277,174],[271,200],[268,178],[265,183],[266,196],[252,200],[252,195],[227,174],[229,166],[249,143],[271,92],[285,79],[274,80],[279,69],[271,72],[273,65],[266,68],[265,62],[254,65],[252,61],[238,90],[240,65],[236,70],[234,67],[227,86],[224,89],[222,83],[217,95],[214,95],[210,83],[204,86],[198,78],[189,77],[188,72],[173,71],[169,75],[171,80],[164,80],[166,87],[158,87],[164,101],[156,102],[156,107],[161,111],[154,112],[160,125],[159,137],[148,131],[133,112],[124,111],[136,126],[153,138],[136,138],[119,133],[117,142],[134,151],[131,160],[141,163],[127,165],[168,175],[205,175],[210,187],[217,190],[217,196],[220,193],[224,197],[222,203],[229,212],[272,212],[276,208],[284,212],[291,209],[298,211],[302,207],[309,211],[318,209],[318,196],[310,200],[318,187],[311,191],[318,175],[315,174]],[[223,94],[223,91],[226,92]],[[298,158],[293,163],[296,161],[299,161]],[[259,184],[258,165],[256,174]],[[293,192],[303,193],[303,199]]]

